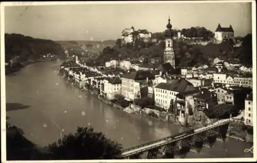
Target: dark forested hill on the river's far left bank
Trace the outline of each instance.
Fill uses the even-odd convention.
[[[6,67],[7,72],[29,63],[38,62],[43,55],[51,54],[57,57],[64,56],[64,50],[60,44],[49,40],[39,39],[22,34],[5,34],[5,63],[12,61]]]

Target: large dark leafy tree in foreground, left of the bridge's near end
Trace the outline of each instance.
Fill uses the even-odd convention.
[[[122,147],[93,128],[78,127],[77,133],[49,145],[52,159],[118,159]]]

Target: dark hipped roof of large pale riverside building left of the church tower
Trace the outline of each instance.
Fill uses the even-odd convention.
[[[122,77],[133,79],[133,80],[142,80],[142,79],[146,79],[146,77],[148,77],[149,79],[155,78],[154,74],[152,74],[150,71],[142,71],[142,70],[126,73],[122,75]]]

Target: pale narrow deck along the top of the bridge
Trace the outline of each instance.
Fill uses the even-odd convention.
[[[149,149],[153,149],[153,148],[156,148],[156,147],[160,147],[162,145],[165,145],[165,144],[169,144],[170,142],[173,142],[173,141],[177,141],[179,139],[183,139],[185,137],[189,137],[191,135],[194,135],[194,134],[197,134],[197,133],[200,133],[200,132],[203,132],[207,129],[210,129],[210,128],[213,128],[213,127],[216,127],[216,126],[219,126],[219,125],[222,125],[222,124],[225,124],[229,121],[229,119],[222,119],[222,120],[218,120],[216,121],[215,123],[209,125],[209,126],[206,126],[206,127],[202,127],[202,128],[199,128],[199,129],[195,129],[194,130],[194,133],[192,134],[183,134],[183,135],[178,135],[178,136],[175,136],[175,137],[172,137],[172,138],[167,138],[166,140],[161,140],[158,141],[158,142],[154,142],[153,144],[147,144],[145,146],[142,146],[142,147],[139,147],[139,148],[135,148],[135,149],[132,149],[130,151],[126,151],[126,152],[123,152],[122,153],[122,156],[128,156],[128,155],[132,155],[132,154],[135,154],[135,153],[139,153],[139,152],[144,152],[144,151],[147,151]]]

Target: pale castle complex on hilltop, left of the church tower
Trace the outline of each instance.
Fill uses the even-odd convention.
[[[152,37],[152,33],[148,32],[146,29],[138,29],[135,31],[135,28],[132,26],[131,28],[126,28],[122,31],[121,38],[123,42],[133,43],[135,40],[142,38],[145,42]]]

